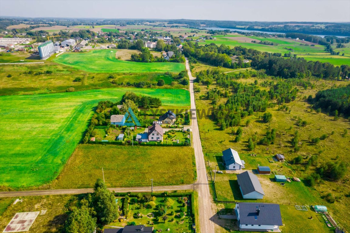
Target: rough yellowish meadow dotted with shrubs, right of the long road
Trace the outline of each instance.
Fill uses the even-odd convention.
[[[253,83],[254,78],[249,79],[240,79],[239,81],[244,83]],[[258,82],[262,82],[259,80]],[[301,90],[296,101],[293,101],[287,106],[291,109],[291,112],[288,111],[278,111],[276,106],[275,108],[268,108],[267,112],[272,113],[272,121],[270,123],[261,123],[259,117],[262,113],[254,113],[252,116],[243,118],[240,126],[243,128],[242,138],[238,143],[235,143],[235,135],[232,135],[233,131],[236,131],[238,127],[230,127],[226,130],[220,130],[219,126],[212,121],[211,116],[204,114],[206,117],[199,117],[198,124],[200,129],[201,141],[203,146],[203,152],[211,153],[221,153],[221,151],[231,147],[234,150],[238,151],[239,154],[242,154],[241,159],[246,161],[247,169],[256,169],[257,164],[262,166],[272,166],[272,163],[268,162],[268,159],[271,160],[272,156],[276,153],[284,154],[287,161],[293,160],[296,156],[301,155],[303,158],[307,158],[311,155],[318,155],[318,164],[324,162],[335,162],[336,160],[341,160],[347,162],[349,160],[349,133],[344,137],[341,135],[344,132],[344,129],[349,131],[349,121],[344,118],[339,118],[338,121],[334,121],[332,116],[327,116],[324,113],[317,114],[315,111],[311,111],[311,106],[302,98],[303,96],[313,95],[317,93],[318,90],[328,89],[332,86],[343,86],[346,85],[344,81],[325,81],[318,80],[315,83],[315,89]],[[196,105],[197,109],[208,109],[210,106],[210,101],[205,99],[199,99],[200,95],[206,94],[206,86],[200,86],[201,92],[196,94]],[[209,88],[213,88],[210,86]],[[262,87],[261,87],[262,88]],[[263,89],[263,88],[262,88]],[[225,98],[222,98],[219,103],[224,103]],[[205,111],[207,112],[207,111]],[[297,117],[301,117],[303,120],[307,121],[308,124],[304,127],[298,126],[296,121]],[[245,126],[246,121],[250,119],[250,124]],[[257,140],[259,141],[262,137],[265,136],[266,131],[269,129],[275,128],[277,130],[276,140],[273,145],[264,146],[257,145],[253,151],[248,151],[247,149],[247,140],[249,137],[252,137],[255,133],[257,134]],[[295,131],[300,133],[300,141],[302,143],[301,149],[299,152],[293,152],[292,147],[290,146],[290,140],[294,136]],[[334,133],[332,133],[334,131]],[[320,137],[322,134],[328,136],[327,139],[321,140],[317,145],[309,143],[309,137]],[[248,153],[255,153],[258,156],[252,157],[247,155]],[[337,157],[338,156],[338,157]],[[213,162],[215,162],[213,160]],[[304,165],[307,160],[303,159],[301,165],[288,165],[290,168],[279,168],[281,171],[278,172],[285,173],[288,176],[297,176],[301,180],[307,177],[310,173],[314,172],[315,167],[310,167],[305,169]],[[275,166],[276,163],[273,163]],[[273,167],[272,166],[272,167]],[[215,166],[214,166],[215,167]],[[212,169],[214,169],[212,167]],[[287,172],[285,172],[287,171]],[[216,179],[220,177],[221,174],[218,174]],[[332,216],[340,222],[341,226],[349,227],[350,223],[346,216],[346,209],[349,208],[349,180],[350,172],[346,173],[344,179],[338,182],[323,181],[320,184],[317,184],[315,188],[308,188],[303,185],[303,183],[298,183],[301,185],[300,189],[296,188],[296,194],[298,191],[307,190],[309,194],[314,197],[315,202],[324,203],[329,211],[332,213]],[[220,179],[219,179],[220,180]],[[218,181],[220,185],[220,181]],[[271,182],[272,183],[272,182]],[[228,193],[227,190],[231,190],[230,183],[226,179],[222,184],[222,198],[231,199],[234,194]],[[269,187],[268,190],[273,189],[274,187]],[[280,188],[280,187],[276,187]],[[264,189],[266,190],[266,189]],[[289,191],[288,191],[289,192]],[[290,199],[291,202],[297,202],[297,200],[302,201],[298,196],[293,195],[293,190],[290,191],[292,196],[286,195],[286,198]],[[328,203],[323,200],[324,196],[328,193],[332,193],[335,197],[339,197],[339,200],[335,203]],[[309,194],[300,194],[300,196],[309,197]],[[228,195],[228,196],[226,196]],[[302,197],[302,198],[304,198]],[[278,201],[277,199],[274,201]],[[306,203],[307,204],[307,203]],[[311,204],[311,203],[310,203]]]

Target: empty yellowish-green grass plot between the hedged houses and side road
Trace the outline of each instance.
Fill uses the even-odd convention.
[[[193,183],[192,147],[78,145],[51,188],[92,188],[102,179],[108,187]]]

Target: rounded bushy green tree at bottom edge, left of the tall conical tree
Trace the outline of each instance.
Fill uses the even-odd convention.
[[[65,221],[66,233],[92,233],[96,228],[96,218],[90,213],[90,208],[86,205],[80,208],[74,207]]]

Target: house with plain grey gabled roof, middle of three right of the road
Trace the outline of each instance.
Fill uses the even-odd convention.
[[[244,199],[262,199],[265,196],[258,177],[250,172],[237,174],[239,190]]]

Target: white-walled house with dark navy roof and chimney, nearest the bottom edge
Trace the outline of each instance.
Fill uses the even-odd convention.
[[[282,226],[278,204],[238,202],[235,212],[240,231],[278,231]]]

